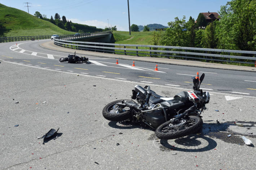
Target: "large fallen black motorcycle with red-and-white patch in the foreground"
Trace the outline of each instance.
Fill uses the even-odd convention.
[[[111,121],[131,120],[144,123],[155,130],[160,139],[175,139],[198,132],[203,125],[201,112],[209,103],[209,92],[203,92],[197,73],[193,78],[194,91],[182,91],[172,97],[163,97],[150,90],[136,85],[132,90],[132,99],[117,100],[107,104],[102,110],[105,119]]]

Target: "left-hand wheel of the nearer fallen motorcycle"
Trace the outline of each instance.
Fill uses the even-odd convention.
[[[107,104],[102,110],[103,117],[110,121],[123,121],[131,118],[129,107],[122,108],[116,105],[117,103],[121,103],[122,101],[123,100],[116,100]],[[133,102],[132,100],[124,101]]]

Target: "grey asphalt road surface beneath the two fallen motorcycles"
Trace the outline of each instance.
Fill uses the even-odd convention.
[[[153,63],[136,61],[135,65],[144,70],[133,70],[123,68],[124,66],[117,68],[120,66],[110,64],[115,63],[113,59],[96,57],[89,59],[107,66],[98,63],[58,63],[58,60],[48,59],[47,55],[38,54],[41,55],[38,57],[12,51],[9,49],[12,45],[13,43],[0,44],[0,59],[4,60],[0,63],[1,170],[255,169],[256,97],[251,93],[253,90],[250,95],[237,95],[213,89],[218,86],[223,87],[218,89],[230,88],[225,85],[228,83],[225,80],[229,80],[225,75],[234,71],[213,69],[213,72],[202,68],[184,69],[181,66],[175,69],[176,66],[161,64],[158,68],[165,72],[161,73],[147,70],[154,69]],[[45,54],[52,54],[54,59],[59,57],[55,55],[67,55],[42,49],[38,42],[29,42],[26,46],[19,47],[33,52],[41,50]],[[131,61],[120,60],[119,63],[130,64]],[[168,141],[159,140],[149,128],[103,118],[103,107],[111,101],[130,98],[131,90],[136,84],[150,84],[151,89],[162,96],[174,96],[182,90],[191,89],[191,83],[185,83],[187,79],[191,80],[189,69],[193,73],[198,69],[199,72],[212,72],[206,74],[203,83],[207,84],[213,84],[213,78],[218,80],[217,78],[224,77],[217,85],[202,86],[213,89],[210,92],[211,100],[207,104],[208,110],[202,114],[202,133]],[[189,75],[182,75],[186,73]],[[242,78],[246,76],[253,78],[250,72],[237,72],[238,74],[240,83],[237,84],[246,84],[242,82]],[[170,80],[164,78],[167,76]],[[235,79],[234,74],[230,77]],[[230,82],[231,87],[235,86],[234,82]],[[179,86],[167,86],[167,83]],[[238,89],[240,88],[232,89],[232,92],[241,92]],[[19,103],[15,104],[17,101]],[[215,111],[216,109],[219,111]],[[243,124],[243,127],[234,122]],[[19,126],[14,127],[17,124]],[[51,128],[58,127],[57,139],[45,141],[44,144],[43,139],[37,139]],[[229,134],[231,137],[227,137]],[[254,145],[246,146],[242,135],[251,139]],[[116,143],[120,145],[117,146]]]

